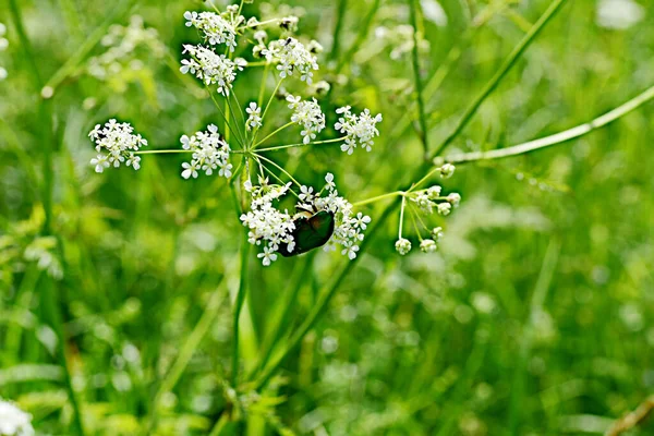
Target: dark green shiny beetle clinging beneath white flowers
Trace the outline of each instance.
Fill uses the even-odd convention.
[[[331,233],[334,233],[334,214],[329,210],[320,210],[314,215],[304,211],[293,220],[295,230],[293,230],[293,241],[295,247],[289,252],[288,244],[279,246],[279,253],[284,257],[296,256],[306,253],[313,249],[325,245]]]

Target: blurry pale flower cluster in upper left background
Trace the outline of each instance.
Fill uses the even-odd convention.
[[[125,71],[137,71],[143,68],[143,61],[136,50],[154,53],[157,58],[164,57],[166,47],[155,28],[144,27],[143,19],[133,15],[129,26],[112,25],[105,35],[101,45],[107,50],[88,60],[87,71],[94,77],[106,81],[123,74]],[[130,77],[121,77],[129,82]],[[122,86],[124,88],[124,86]]]

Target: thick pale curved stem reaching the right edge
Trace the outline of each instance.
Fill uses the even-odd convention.
[[[602,117],[598,117],[588,123],[583,123],[576,128],[556,133],[554,135],[541,137],[538,140],[529,141],[526,143],[513,145],[511,147],[495,149],[491,152],[472,152],[460,155],[448,156],[445,160],[452,164],[464,164],[473,162],[477,160],[493,160],[502,159],[510,156],[523,155],[526,153],[535,152],[542,148],[550,147],[553,145],[562,144],[571,140],[588,135],[589,133],[604,128],[611,122],[619,120],[628,113],[640,108],[644,104],[654,99],[654,86],[644,90],[642,94],[627,101],[626,104],[606,112]]]

